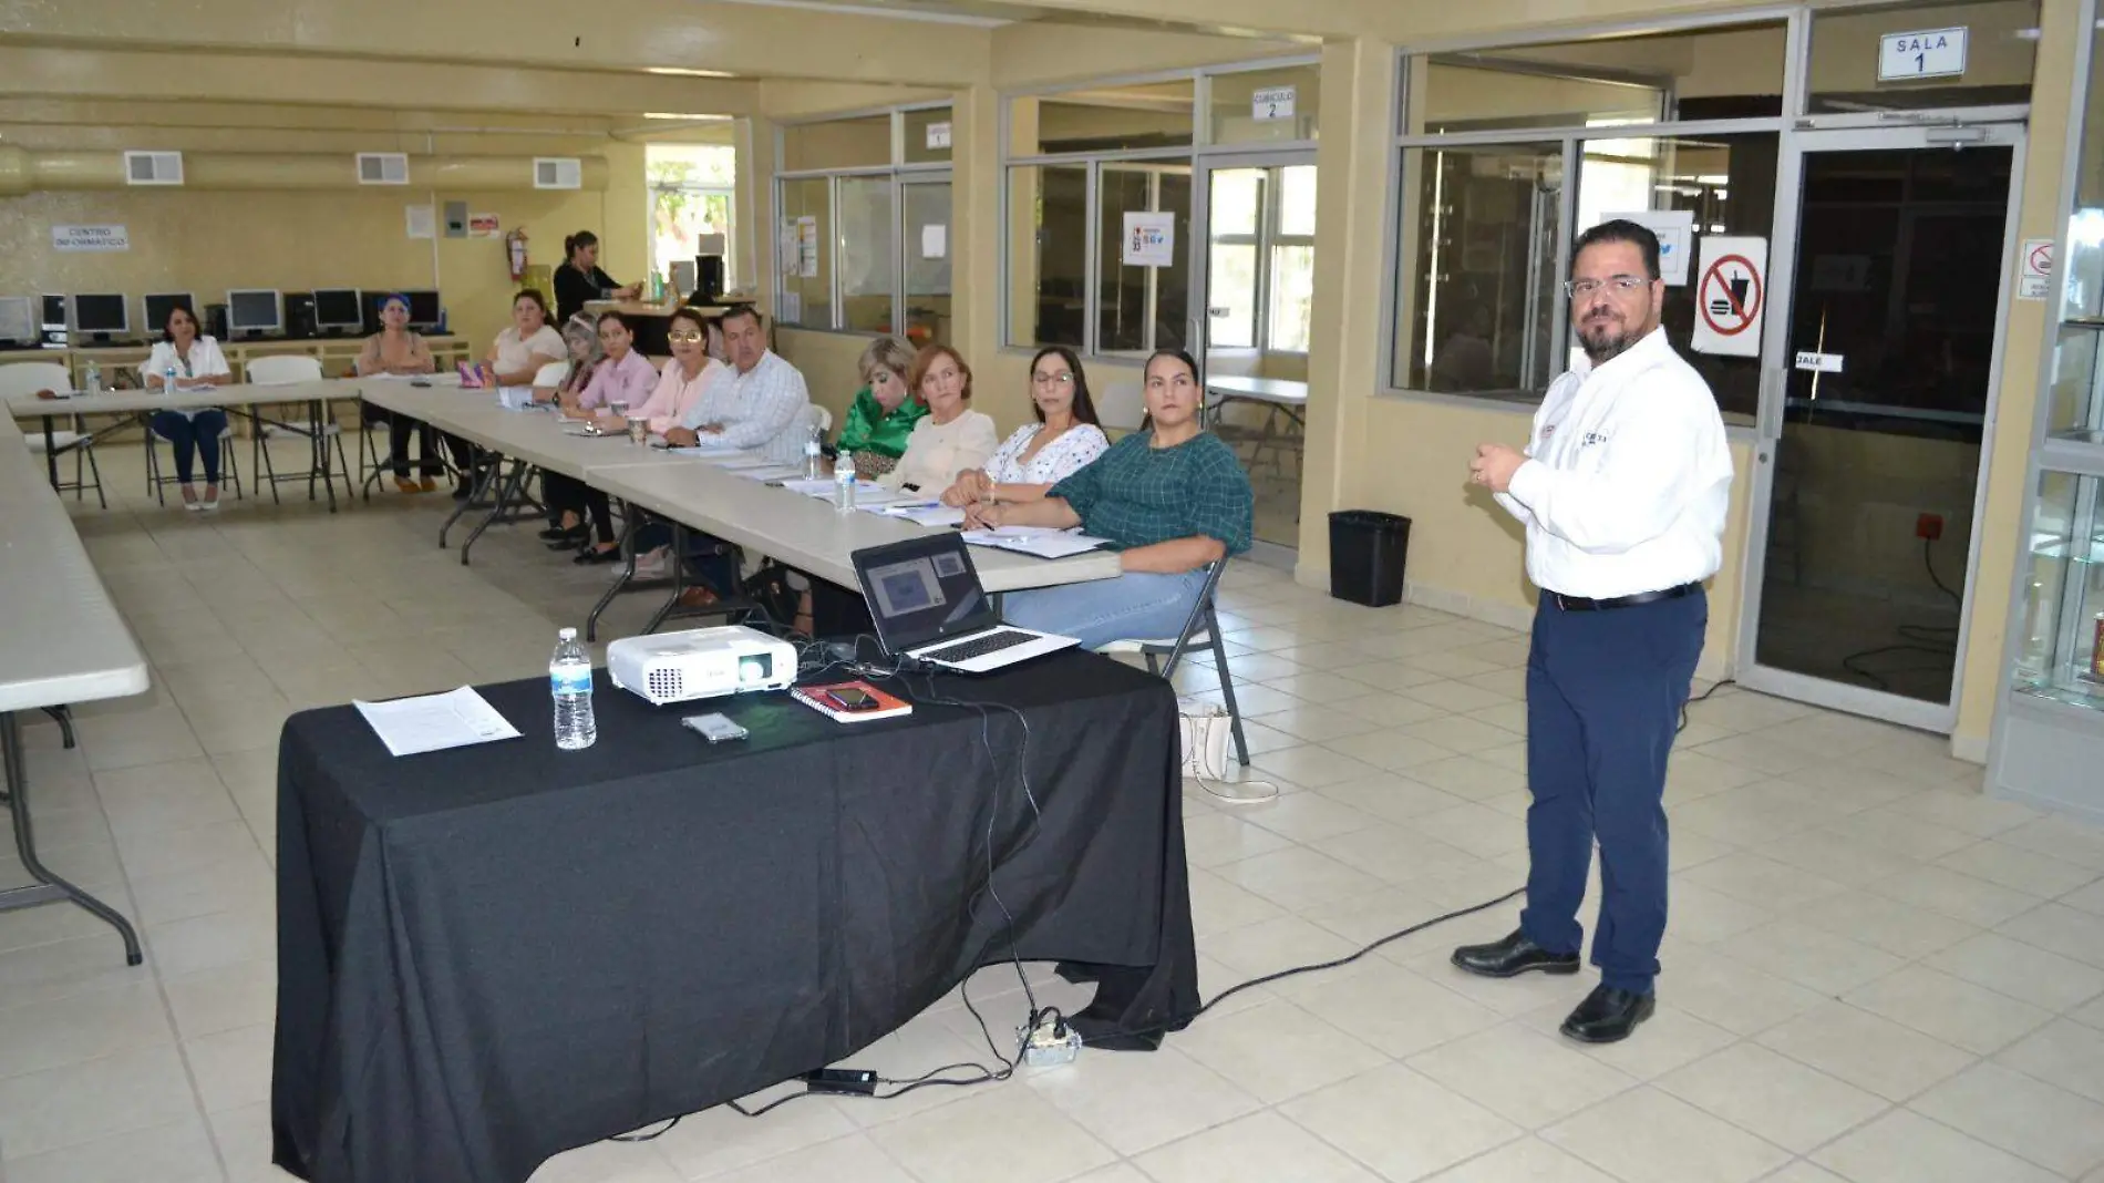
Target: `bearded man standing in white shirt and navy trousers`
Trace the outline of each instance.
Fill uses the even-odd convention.
[[[1540,589],[1528,655],[1528,907],[1490,945],[1454,949],[1485,977],[1578,973],[1578,901],[1599,840],[1593,964],[1563,1021],[1582,1042],[1652,1017],[1666,930],[1666,756],[1723,562],[1732,453],[1717,400],[1666,343],[1658,236],[1607,221],[1578,236],[1572,328],[1589,358],[1549,387],[1528,450],[1483,444],[1469,478],[1528,526]]]

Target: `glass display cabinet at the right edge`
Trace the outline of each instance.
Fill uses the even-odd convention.
[[[2077,27],[2098,29],[2098,0]],[[2056,244],[2054,316],[2030,497],[1988,754],[1995,796],[2104,821],[2104,29],[2077,51],[2083,101],[2068,145],[2068,219]]]

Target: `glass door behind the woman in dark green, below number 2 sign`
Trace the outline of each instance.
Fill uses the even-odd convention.
[[[1208,421],[1256,490],[1256,541],[1300,545],[1315,295],[1315,154],[1201,160],[1191,320]]]

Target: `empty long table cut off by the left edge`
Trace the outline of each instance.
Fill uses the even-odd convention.
[[[122,699],[147,688],[147,665],[124,617],[109,600],[65,503],[50,490],[13,419],[0,417],[0,766],[15,823],[15,853],[32,884],[0,890],[0,911],[78,903],[124,939],[126,964],[139,964],[139,935],[114,907],[44,867],[29,817],[29,770],[21,711],[61,711],[72,703]],[[72,724],[61,716],[72,743]]]

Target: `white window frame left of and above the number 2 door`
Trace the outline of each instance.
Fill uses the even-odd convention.
[[[1088,168],[1088,210],[1086,210],[1088,265],[1084,269],[1084,299],[1081,299],[1081,326],[1084,328],[1081,328],[1081,345],[1077,345],[1075,349],[1084,358],[1119,358],[1119,360],[1126,360],[1126,358],[1134,358],[1134,356],[1145,356],[1155,345],[1155,318],[1151,318],[1151,316],[1147,320],[1147,345],[1149,345],[1147,349],[1138,349],[1138,352],[1132,352],[1132,349],[1105,352],[1105,349],[1098,347],[1100,330],[1102,330],[1102,303],[1100,303],[1102,301],[1102,242],[1100,242],[1100,236],[1102,236],[1102,166],[1107,166],[1107,164],[1111,164],[1111,166],[1117,166],[1117,164],[1149,164],[1149,162],[1153,162],[1153,164],[1182,164],[1189,171],[1189,175],[1191,175],[1193,200],[1197,200],[1197,164],[1199,164],[1201,156],[1248,156],[1252,152],[1290,154],[1290,152],[1307,152],[1307,149],[1315,147],[1313,139],[1296,139],[1296,141],[1279,141],[1279,143],[1214,143],[1212,141],[1212,78],[1218,78],[1222,74],[1254,74],[1254,72],[1290,69],[1290,67],[1302,67],[1302,65],[1321,65],[1321,57],[1319,55],[1286,55],[1286,57],[1267,57],[1267,59],[1254,59],[1254,61],[1237,61],[1237,63],[1227,63],[1227,65],[1203,65],[1203,67],[1191,67],[1191,69],[1166,69],[1166,72],[1155,72],[1155,74],[1121,74],[1121,76],[1109,76],[1109,78],[1086,78],[1086,80],[1079,80],[1079,82],[1056,82],[1056,84],[1044,84],[1044,86],[1025,86],[1025,88],[1014,88],[1014,91],[1002,91],[1002,126],[999,126],[999,141],[1002,141],[1002,145],[999,145],[1002,147],[999,149],[999,156],[1002,156],[1002,185],[999,185],[999,192],[1002,192],[1002,202],[999,202],[999,206],[1002,206],[999,208],[999,219],[1002,219],[999,221],[1002,223],[1002,263],[999,263],[999,276],[1002,276],[1002,284],[999,284],[999,288],[1002,290],[999,290],[999,312],[997,312],[999,324],[1002,324],[1002,349],[1033,352],[1033,349],[1039,347],[1037,341],[1016,341],[1016,339],[1012,339],[1012,330],[1014,330],[1014,316],[1012,316],[1012,299],[1014,299],[1012,286],[1014,286],[1014,280],[1012,280],[1012,276],[1014,276],[1014,267],[1018,263],[1012,257],[1012,250],[1010,250],[1010,240],[1012,240],[1012,234],[1010,234],[1010,227],[1012,227],[1012,221],[1010,221],[1010,175],[1012,175],[1014,168],[1031,168],[1031,166],[1084,166],[1084,168]],[[1121,152],[1052,152],[1052,154],[1033,154],[1033,156],[1016,156],[1014,154],[1014,105],[1016,105],[1016,99],[1037,99],[1037,97],[1046,97],[1046,95],[1063,95],[1063,93],[1092,88],[1092,86],[1134,86],[1134,84],[1149,84],[1149,82],[1182,82],[1182,80],[1191,82],[1191,145],[1189,147],[1140,147],[1140,149],[1121,149]],[[1153,204],[1159,204],[1159,181],[1155,181],[1155,202]],[[1189,225],[1197,225],[1197,221],[1199,221],[1197,219],[1197,210],[1187,210],[1187,219],[1189,219]],[[1313,240],[1309,240],[1309,242],[1313,242]],[[1199,248],[1197,242],[1185,242],[1182,244],[1187,274],[1195,274],[1197,261],[1193,259],[1191,253],[1197,250],[1197,248]],[[1159,274],[1151,274],[1149,276],[1149,307],[1153,307],[1155,299],[1159,299]],[[1189,312],[1191,312],[1191,316],[1187,318],[1189,324],[1185,326],[1185,347],[1195,349],[1203,341],[1203,326],[1201,326],[1201,320],[1206,316],[1203,301],[1199,301],[1199,305],[1193,307],[1193,309],[1189,309]],[[1262,341],[1262,339],[1258,339],[1258,341]]]

